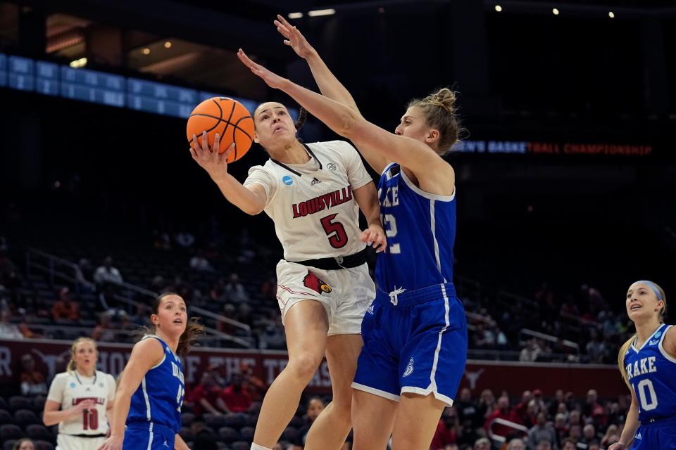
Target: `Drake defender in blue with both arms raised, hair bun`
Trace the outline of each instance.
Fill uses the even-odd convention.
[[[452,285],[455,173],[442,155],[458,139],[449,89],[409,103],[394,134],[365,120],[349,92],[295,27],[277,16],[287,45],[306,58],[316,94],[253,63],[268,86],[361,151],[380,179],[388,249],[376,265],[378,293],[362,324],[364,347],[353,387],[354,449],[428,449],[453,402],[467,356],[465,313]]]

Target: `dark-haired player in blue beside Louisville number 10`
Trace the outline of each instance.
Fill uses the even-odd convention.
[[[111,437],[99,450],[188,449],[178,435],[185,394],[179,355],[204,327],[188,321],[185,302],[174,293],[157,297],[150,319],[154,329],[132,349],[115,394]]]

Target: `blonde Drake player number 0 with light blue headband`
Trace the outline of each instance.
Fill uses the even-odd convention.
[[[637,281],[626,306],[636,334],[620,348],[618,365],[632,405],[609,450],[676,449],[676,330],[663,322],[667,298],[655,283]]]

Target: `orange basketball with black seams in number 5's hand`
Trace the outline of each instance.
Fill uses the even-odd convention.
[[[253,119],[242,103],[227,97],[213,97],[203,101],[188,117],[187,136],[192,146],[192,135],[202,145],[202,131],[206,131],[209,146],[213,137],[220,135],[218,153],[225,152],[234,142],[234,150],[227,162],[239,160],[249,151],[253,142]]]

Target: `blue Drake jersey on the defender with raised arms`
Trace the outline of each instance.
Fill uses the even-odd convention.
[[[392,164],[380,177],[378,197],[387,235],[387,250],[375,265],[378,288],[392,292],[453,283],[455,192],[426,193]]]

